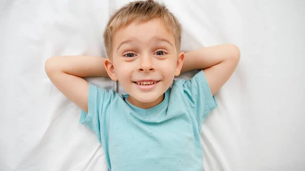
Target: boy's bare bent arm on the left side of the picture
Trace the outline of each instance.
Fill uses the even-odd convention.
[[[82,77],[108,77],[105,58],[93,56],[54,56],[45,63],[52,83],[77,106],[88,112],[89,84]]]

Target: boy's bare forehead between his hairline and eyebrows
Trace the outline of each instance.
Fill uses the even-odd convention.
[[[154,38],[160,39],[154,39]],[[137,40],[139,43],[149,44],[151,40],[168,40],[175,45],[175,39],[161,19],[154,19],[144,23],[132,22],[128,26],[117,30],[113,36],[112,50],[115,50],[121,42],[127,40]]]

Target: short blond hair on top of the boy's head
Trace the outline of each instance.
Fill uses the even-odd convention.
[[[108,58],[112,56],[112,39],[115,31],[128,26],[132,22],[143,23],[160,18],[169,31],[173,33],[177,51],[180,50],[182,27],[176,17],[154,0],[131,2],[116,11],[108,20],[104,31],[104,45]]]

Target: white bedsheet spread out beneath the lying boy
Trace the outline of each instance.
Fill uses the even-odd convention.
[[[126,2],[0,1],[0,170],[107,170],[94,133],[44,62],[105,56],[105,23]],[[182,50],[234,43],[241,51],[203,124],[205,170],[305,170],[305,1],[164,2],[184,26]]]

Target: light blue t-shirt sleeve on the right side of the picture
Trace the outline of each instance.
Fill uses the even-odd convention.
[[[217,108],[216,99],[212,96],[203,71],[198,72],[191,80],[186,81],[183,86],[188,105],[193,109],[198,126],[201,127],[207,115]]]

